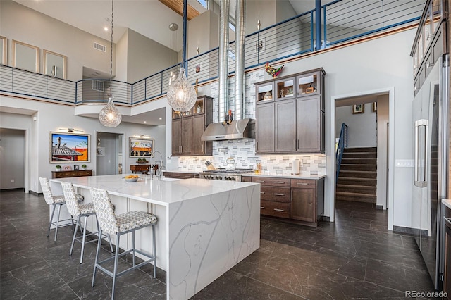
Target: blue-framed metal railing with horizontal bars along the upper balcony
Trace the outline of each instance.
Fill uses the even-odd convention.
[[[321,47],[349,42],[383,30],[418,22],[425,0],[337,0],[321,6],[322,20],[315,20],[315,10],[247,35],[245,69],[266,62],[301,56],[316,51],[316,24],[321,23]],[[187,78],[208,82],[218,77],[218,48],[187,59]],[[235,72],[235,43],[229,46],[230,74]],[[169,82],[178,76],[180,63],[135,83],[112,80],[73,82],[0,65],[0,92],[11,92],[73,104],[106,102],[109,89],[114,101],[138,104],[163,96]]]

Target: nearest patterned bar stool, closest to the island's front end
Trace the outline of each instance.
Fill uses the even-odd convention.
[[[156,224],[156,216],[150,213],[145,213],[144,211],[128,211],[127,213],[121,213],[121,215],[117,215],[114,213],[113,204],[111,204],[110,196],[108,192],[103,189],[91,189],[92,202],[94,203],[94,208],[96,210],[97,220],[99,220],[100,224],[100,235],[101,233],[107,232],[109,235],[116,235],[116,254],[115,256],[111,256],[109,258],[104,259],[103,261],[98,261],[99,252],[100,252],[100,243],[97,244],[97,252],[96,252],[96,261],[94,263],[94,273],[92,274],[92,287],[94,287],[94,280],[96,278],[97,269],[104,271],[107,275],[113,277],[113,292],[111,292],[111,300],[114,299],[114,287],[116,286],[116,277],[123,275],[131,270],[135,270],[137,268],[141,268],[143,265],[147,263],[154,264],[154,277],[156,277],[156,246],[155,246],[155,224]],[[144,252],[135,249],[135,231],[140,230],[144,227],[152,226],[152,246],[153,246],[153,255],[145,254]],[[121,235],[125,235],[128,232],[132,232],[132,249],[124,251],[119,254],[119,239]],[[118,270],[118,258],[120,256],[124,256],[129,253],[133,254],[133,265],[132,267],[123,270],[121,272],[117,272]],[[141,254],[145,256],[147,261],[144,261],[138,265],[135,264],[135,254]],[[114,267],[113,272],[110,270],[106,270],[102,263],[106,263],[107,261],[111,261],[114,259]]]

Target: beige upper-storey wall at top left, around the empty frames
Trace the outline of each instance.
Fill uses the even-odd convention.
[[[11,40],[16,39],[41,49],[41,73],[44,73],[43,49],[68,57],[68,80],[82,79],[83,66],[110,73],[110,42],[107,33],[105,39],[101,39],[14,1],[0,1],[0,35],[8,38],[8,65],[12,65],[13,57]],[[106,46],[107,51],[94,49],[94,42]],[[113,52],[116,51],[114,48]]]

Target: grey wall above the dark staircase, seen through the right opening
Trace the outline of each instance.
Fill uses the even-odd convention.
[[[371,111],[371,103],[366,103],[364,113],[352,113],[353,106],[335,108],[335,137],[340,137],[342,123],[348,126],[347,146],[375,147],[376,142],[376,113]]]

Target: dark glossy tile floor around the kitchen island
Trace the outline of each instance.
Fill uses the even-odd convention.
[[[68,255],[70,227],[56,243],[46,237],[48,215],[42,196],[0,192],[0,299],[109,299],[110,277],[98,272],[90,285],[95,244],[80,265],[80,244]],[[414,239],[386,230],[387,218],[346,201],[335,223],[315,229],[264,218],[260,249],[193,299],[404,299],[404,291],[433,291]],[[166,273],[149,274],[146,267],[119,277],[117,299],[166,299]]]

